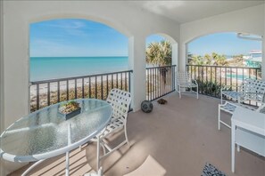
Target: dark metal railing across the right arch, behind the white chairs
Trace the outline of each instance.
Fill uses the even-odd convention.
[[[245,78],[261,79],[261,68],[186,65],[201,94],[220,98],[220,89],[237,91]]]

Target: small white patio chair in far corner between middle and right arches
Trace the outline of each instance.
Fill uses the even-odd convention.
[[[181,99],[181,89],[189,88],[189,92],[195,92],[192,88],[196,88],[197,99],[199,99],[199,89],[196,80],[191,79],[191,76],[187,72],[177,72],[176,73],[176,82],[177,82],[177,92],[179,94],[179,99]]]

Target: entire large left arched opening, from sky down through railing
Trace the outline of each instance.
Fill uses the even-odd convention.
[[[31,111],[129,90],[128,37],[116,29],[84,19],[45,20],[29,29]]]

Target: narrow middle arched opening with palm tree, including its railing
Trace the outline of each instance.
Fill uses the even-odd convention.
[[[175,91],[178,44],[170,36],[156,34],[145,40],[146,99],[156,100]]]

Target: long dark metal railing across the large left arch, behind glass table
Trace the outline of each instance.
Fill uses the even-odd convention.
[[[90,76],[75,76],[31,82],[30,111],[63,100],[95,98],[105,100],[108,92],[119,88],[130,92],[132,70]]]

